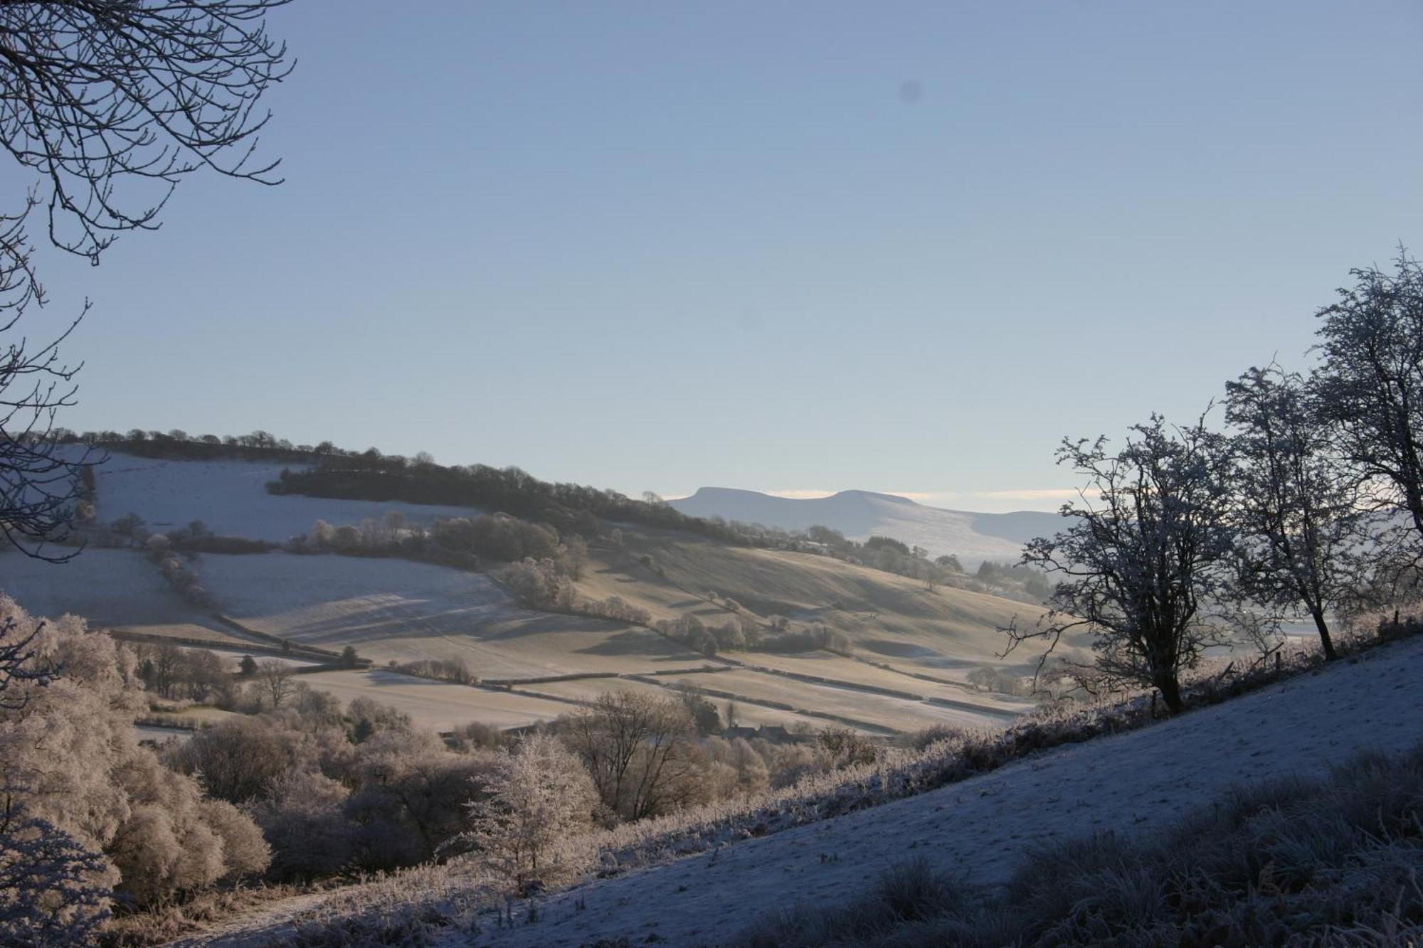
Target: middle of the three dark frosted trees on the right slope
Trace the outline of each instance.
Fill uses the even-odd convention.
[[[1329,615],[1358,586],[1363,544],[1356,481],[1332,455],[1332,433],[1298,374],[1251,369],[1225,390],[1235,591],[1272,615],[1308,615],[1333,659]]]

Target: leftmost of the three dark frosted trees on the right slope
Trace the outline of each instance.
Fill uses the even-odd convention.
[[[1091,635],[1097,668],[1116,682],[1155,688],[1171,713],[1183,709],[1181,670],[1221,642],[1204,608],[1221,589],[1231,551],[1229,451],[1204,418],[1168,428],[1160,416],[1137,424],[1117,453],[1107,438],[1064,440],[1057,463],[1087,478],[1073,522],[1027,544],[1023,565],[1060,576],[1050,611],[1033,628],[1012,623],[1007,652],[1062,636]]]

